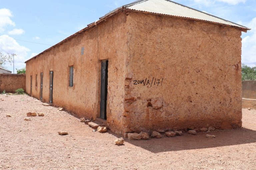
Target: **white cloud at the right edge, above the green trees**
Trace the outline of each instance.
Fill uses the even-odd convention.
[[[256,66],[256,17],[248,24],[251,31],[242,40],[242,63],[249,66]]]

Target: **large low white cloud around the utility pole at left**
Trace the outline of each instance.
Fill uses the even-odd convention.
[[[24,62],[28,59],[27,52],[30,51],[30,49],[20,45],[16,40],[8,35],[2,35],[0,36],[0,51],[16,54],[14,57],[14,68],[19,69],[26,66]],[[10,63],[6,63],[5,67],[9,70],[13,70],[13,66],[11,66]]]

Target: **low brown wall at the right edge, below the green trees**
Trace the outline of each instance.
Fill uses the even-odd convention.
[[[242,107],[256,109],[256,80],[242,82]]]

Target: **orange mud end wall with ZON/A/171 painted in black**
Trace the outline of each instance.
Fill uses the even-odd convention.
[[[241,127],[240,30],[135,12],[127,23],[127,131]]]

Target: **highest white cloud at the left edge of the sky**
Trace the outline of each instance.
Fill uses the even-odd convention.
[[[5,27],[8,25],[15,26],[15,23],[11,20],[13,17],[12,12],[9,9],[0,9],[0,33],[5,31]]]

